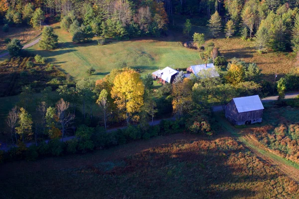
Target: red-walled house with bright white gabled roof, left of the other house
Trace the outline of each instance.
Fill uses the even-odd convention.
[[[178,74],[177,70],[174,70],[170,67],[166,67],[162,70],[157,70],[152,73],[152,77],[154,80],[157,80],[161,84],[172,83],[175,76]]]

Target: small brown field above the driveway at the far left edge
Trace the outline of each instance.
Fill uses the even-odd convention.
[[[19,39],[22,44],[24,44],[40,34],[40,30],[30,27],[9,27],[8,32],[3,32],[2,26],[0,26],[0,31],[0,53],[6,49],[6,43],[4,43],[4,39],[6,38],[16,38]]]

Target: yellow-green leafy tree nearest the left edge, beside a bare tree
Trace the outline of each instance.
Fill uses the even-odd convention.
[[[32,135],[32,117],[31,115],[23,108],[20,108],[18,114],[18,126],[15,128],[16,133],[22,135],[22,140],[24,142],[24,137],[30,139]]]

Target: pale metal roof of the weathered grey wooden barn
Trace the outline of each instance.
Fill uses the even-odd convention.
[[[264,109],[263,103],[258,95],[234,98],[233,100],[239,113]]]

